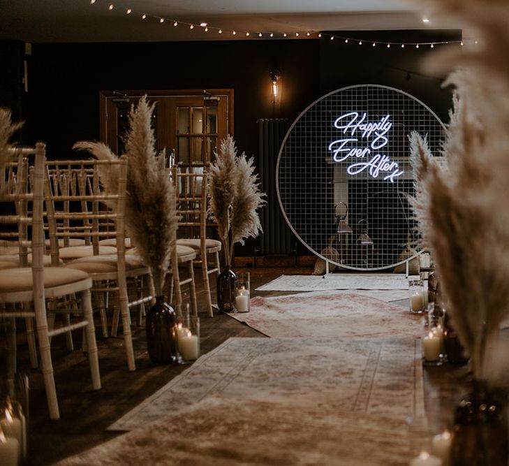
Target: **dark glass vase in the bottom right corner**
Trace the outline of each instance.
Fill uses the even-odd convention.
[[[456,407],[451,466],[507,466],[506,398],[473,381],[472,391]]]

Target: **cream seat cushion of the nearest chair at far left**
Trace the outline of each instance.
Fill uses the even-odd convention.
[[[89,276],[81,270],[68,270],[64,267],[46,267],[43,270],[45,288],[66,285]],[[30,267],[0,270],[0,292],[28,291],[34,288],[32,269]]]

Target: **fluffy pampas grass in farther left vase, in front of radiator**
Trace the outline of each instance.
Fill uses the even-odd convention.
[[[265,203],[253,158],[237,156],[230,135],[221,141],[216,161],[210,166],[209,193],[209,216],[217,223],[225,260],[230,264],[235,243],[243,245],[246,238],[256,238],[262,231],[256,210]]]

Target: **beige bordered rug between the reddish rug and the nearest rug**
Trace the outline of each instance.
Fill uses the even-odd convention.
[[[110,426],[132,430],[211,395],[332,412],[424,413],[420,340],[230,338]]]

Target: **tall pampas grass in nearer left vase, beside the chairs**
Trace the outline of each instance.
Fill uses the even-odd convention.
[[[143,96],[129,113],[126,231],[152,272],[156,295],[163,296],[179,217],[175,187],[164,157],[154,149],[154,132],[150,127],[154,105],[149,105],[147,96]],[[80,142],[74,147],[91,152],[97,159],[117,157],[102,143]],[[115,192],[117,180],[115,173],[101,176],[103,187],[109,191]]]

